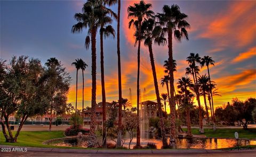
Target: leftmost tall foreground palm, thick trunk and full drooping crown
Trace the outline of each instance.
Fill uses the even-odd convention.
[[[102,17],[102,9],[99,1],[88,0],[82,8],[82,13],[76,13],[74,15],[77,24],[73,25],[72,32],[79,33],[85,28],[88,28],[88,34],[85,38],[86,49],[90,46],[90,40],[92,42],[92,102],[91,102],[91,124],[88,140],[88,147],[94,147],[96,143],[95,136],[95,106],[96,106],[96,34],[100,25],[99,19]],[[91,36],[91,37],[90,37]]]

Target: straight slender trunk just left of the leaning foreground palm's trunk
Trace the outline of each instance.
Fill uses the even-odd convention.
[[[138,62],[138,70],[137,70],[137,120],[138,120],[138,124],[137,124],[137,140],[136,140],[136,146],[139,147],[140,146],[140,43],[141,43],[141,36],[140,36],[140,31],[141,31],[141,22],[139,22],[139,29],[138,29],[138,33],[139,33],[139,44],[138,44],[138,58],[137,58],[137,62]]]

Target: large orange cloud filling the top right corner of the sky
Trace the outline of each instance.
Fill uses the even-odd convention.
[[[245,46],[255,39],[255,2],[233,2],[214,19],[201,38],[217,41],[218,47]],[[246,18],[244,18],[246,17]],[[239,24],[238,24],[239,23]]]

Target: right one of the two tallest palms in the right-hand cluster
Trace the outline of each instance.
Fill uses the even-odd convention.
[[[209,71],[209,66],[210,65],[213,65],[214,66],[214,60],[212,59],[212,57],[209,57],[209,56],[204,56],[203,58],[201,58],[201,66],[207,66],[207,72],[208,72],[208,76],[209,76],[209,83],[210,83],[210,87],[212,86],[211,85],[211,77],[210,77],[210,71]],[[212,95],[212,89],[210,88],[210,93],[211,93],[211,104],[212,104],[212,111],[214,112],[214,105],[213,105],[213,95]],[[213,116],[213,130],[216,130],[216,125],[215,125],[215,117],[214,117],[214,114],[212,115]]]

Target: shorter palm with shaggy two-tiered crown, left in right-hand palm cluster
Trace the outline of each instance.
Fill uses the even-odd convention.
[[[186,120],[187,120],[187,128],[188,128],[188,136],[192,136],[191,134],[191,125],[190,125],[190,108],[193,107],[193,101],[191,98],[193,94],[188,90],[189,88],[193,88],[193,83],[189,79],[189,77],[182,77],[178,82],[178,89],[180,89],[179,93],[181,93],[181,108],[185,109],[186,112]]]

